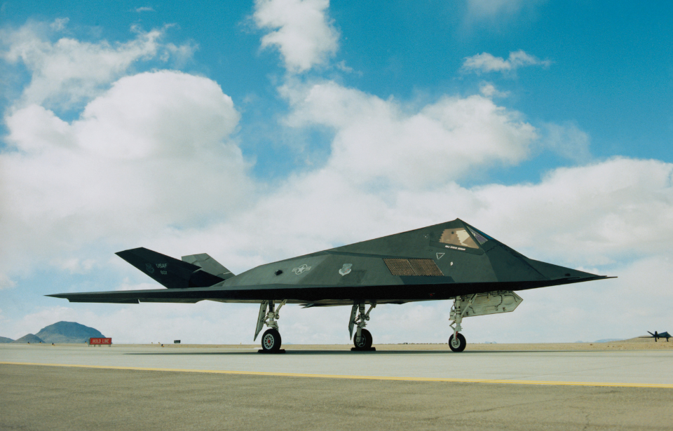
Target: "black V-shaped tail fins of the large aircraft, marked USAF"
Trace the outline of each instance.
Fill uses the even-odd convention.
[[[139,247],[117,252],[116,255],[168,289],[209,287],[233,277],[231,271],[205,253],[184,256],[179,261]]]

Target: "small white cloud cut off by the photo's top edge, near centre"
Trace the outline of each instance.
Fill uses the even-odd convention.
[[[285,67],[302,72],[325,64],[339,48],[339,32],[327,15],[329,0],[257,0],[253,19],[262,48],[274,46]]]

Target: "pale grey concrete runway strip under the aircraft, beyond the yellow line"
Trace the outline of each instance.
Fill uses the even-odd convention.
[[[452,353],[447,349],[353,353],[335,348],[294,350],[290,346],[285,355],[262,355],[256,347],[6,345],[0,348],[0,362],[303,377],[673,388],[673,350]],[[653,373],[653,369],[657,372]]]

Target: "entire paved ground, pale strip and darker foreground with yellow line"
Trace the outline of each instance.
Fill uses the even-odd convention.
[[[673,425],[673,352],[254,352],[0,346],[0,430]]]

